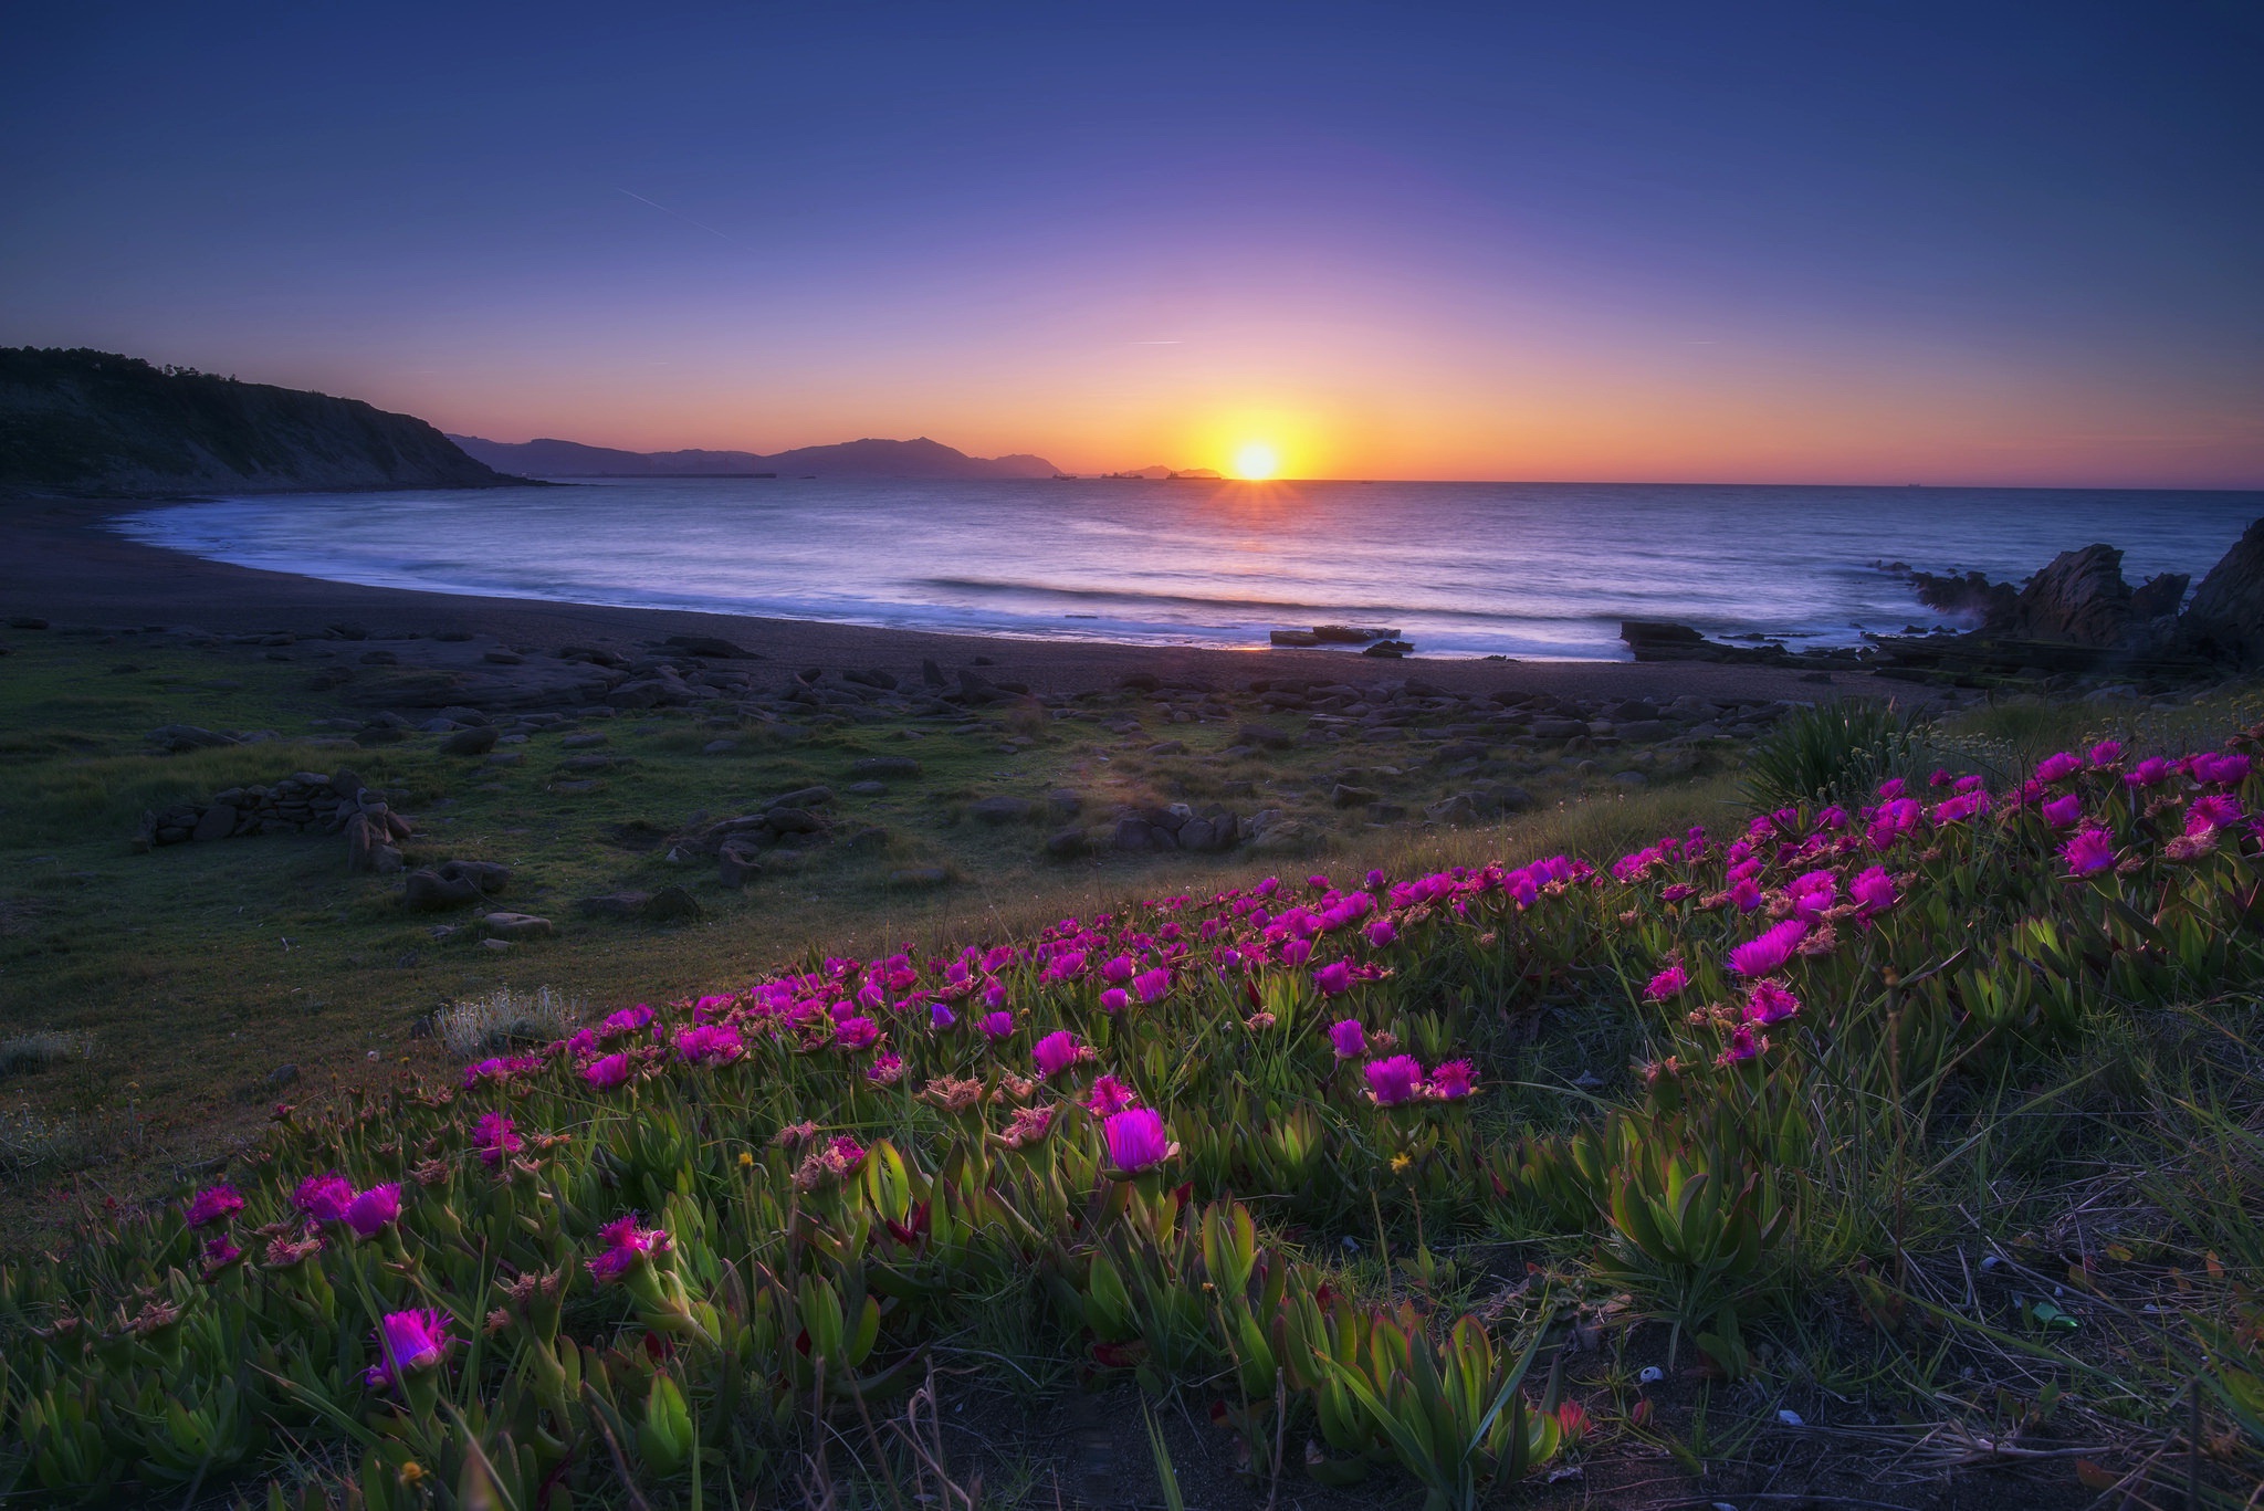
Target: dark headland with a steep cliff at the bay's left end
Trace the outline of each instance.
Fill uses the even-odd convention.
[[[84,494],[503,487],[410,415],[106,351],[0,347],[0,483]]]

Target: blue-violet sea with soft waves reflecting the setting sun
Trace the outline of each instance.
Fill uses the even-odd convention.
[[[1399,630],[1417,655],[1626,659],[1621,618],[1854,643],[1940,623],[1879,562],[2019,580],[2110,541],[2201,575],[2264,492],[1578,483],[620,478],[122,517],[340,582],[1180,646]]]

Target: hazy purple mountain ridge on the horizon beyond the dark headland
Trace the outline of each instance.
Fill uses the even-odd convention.
[[[614,451],[559,439],[487,442],[478,435],[451,435],[448,439],[489,467],[530,478],[724,478],[765,471],[786,478],[1050,478],[1055,473],[1046,458],[974,458],[928,437],[797,446],[777,455],[756,451]]]

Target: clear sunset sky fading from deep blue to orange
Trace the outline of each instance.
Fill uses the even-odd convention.
[[[86,5],[0,342],[489,439],[2264,485],[2264,7]]]

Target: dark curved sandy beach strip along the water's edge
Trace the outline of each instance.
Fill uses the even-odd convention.
[[[1453,691],[1524,691],[1564,698],[1829,700],[1850,693],[1929,698],[1909,682],[1870,673],[1832,673],[1832,682],[1775,666],[1698,661],[1472,661],[1383,659],[1333,650],[1211,650],[1200,646],[1132,646],[1109,641],[1039,641],[840,625],[797,618],[700,614],[681,609],[577,605],[546,598],[475,598],[396,587],[362,587],[297,573],[233,566],[145,546],[104,521],[163,498],[54,498],[0,494],[0,609],[57,625],[197,628],[321,634],[351,621],[371,639],[469,632],[500,646],[557,648],[595,643],[643,646],[670,634],[729,639],[781,668],[917,668],[983,664],[992,677],[1028,682],[1041,693],[1116,686],[1125,675],[1329,677],[1365,686],[1420,675]],[[423,639],[421,643],[430,643]],[[453,657],[451,657],[453,659]]]

